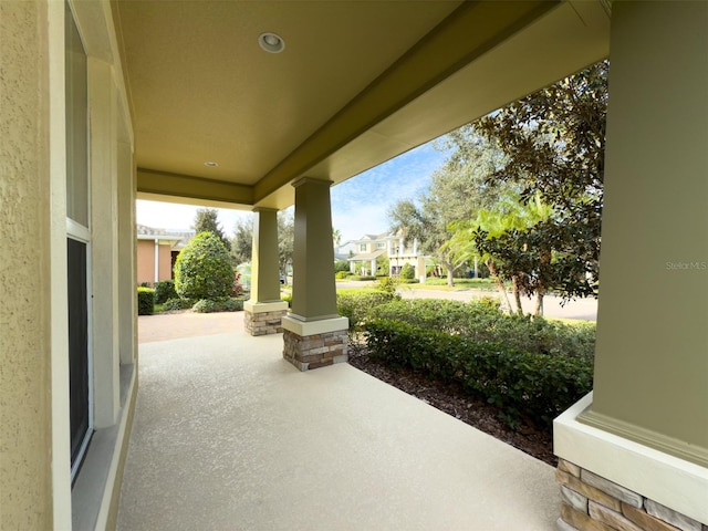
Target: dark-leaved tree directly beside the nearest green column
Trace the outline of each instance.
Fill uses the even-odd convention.
[[[597,294],[607,70],[600,62],[475,124],[504,154],[488,180],[516,183],[524,204],[540,197],[552,207],[552,217],[514,238],[550,249],[543,289],[565,299]],[[509,240],[493,238],[483,240],[499,250]]]

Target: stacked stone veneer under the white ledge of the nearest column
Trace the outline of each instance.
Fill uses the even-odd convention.
[[[707,524],[564,459],[555,479],[563,501],[559,531],[708,531]]]

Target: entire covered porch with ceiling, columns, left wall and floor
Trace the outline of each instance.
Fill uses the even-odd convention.
[[[548,467],[522,479],[523,456],[326,366],[346,361],[347,327],[330,187],[610,58],[594,392],[555,424],[555,516],[706,530],[708,3],[2,1],[0,46],[3,527],[113,529],[132,503],[156,528],[238,508],[262,529],[530,529],[516,511],[548,529]],[[246,311],[253,330],[278,315],[282,336],[162,343],[181,356],[166,372],[157,343],[138,356],[137,197],[253,211]],[[275,216],[292,205],[284,315]],[[208,369],[237,358],[235,382]],[[138,384],[143,486],[132,466],[123,485]],[[148,517],[153,500],[174,514]]]

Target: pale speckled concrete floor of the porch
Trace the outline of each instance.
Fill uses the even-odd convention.
[[[142,342],[119,530],[554,529],[549,465],[240,329]]]

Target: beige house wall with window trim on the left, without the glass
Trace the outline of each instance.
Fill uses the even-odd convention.
[[[96,431],[72,488],[64,2],[0,2],[2,529],[108,525],[129,436],[127,419],[135,404],[135,170],[131,123],[119,65],[113,63],[117,50],[112,49],[115,41],[110,6],[72,6],[90,62],[93,194],[88,274],[93,303],[88,333]],[[121,149],[118,142],[123,144]],[[118,301],[129,301],[121,315]],[[125,379],[129,379],[133,392],[121,405],[119,383],[124,378],[119,375],[124,373],[131,376]]]

